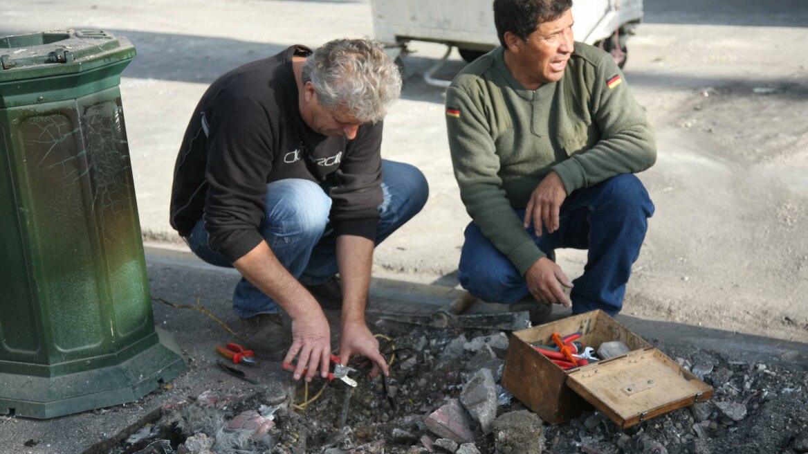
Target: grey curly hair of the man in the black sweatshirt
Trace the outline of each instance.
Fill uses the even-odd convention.
[[[332,40],[303,65],[303,83],[312,82],[325,107],[347,107],[361,122],[384,118],[401,94],[398,67],[381,44],[372,40]]]

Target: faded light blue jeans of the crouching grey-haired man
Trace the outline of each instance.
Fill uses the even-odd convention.
[[[381,171],[384,200],[379,205],[377,246],[421,211],[429,195],[427,179],[414,166],[382,160]],[[336,236],[328,219],[331,199],[318,183],[305,179],[269,183],[264,204],[267,212],[259,231],[289,274],[303,284],[316,285],[339,271]],[[187,242],[205,262],[233,267],[224,255],[208,248],[204,221],[196,222]],[[280,312],[275,301],[243,278],[233,294],[233,309],[243,318]]]

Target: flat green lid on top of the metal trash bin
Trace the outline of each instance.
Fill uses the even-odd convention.
[[[0,38],[0,82],[75,74],[135,56],[123,36],[65,30]]]

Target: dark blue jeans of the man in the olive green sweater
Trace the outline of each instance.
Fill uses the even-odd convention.
[[[524,210],[515,210],[524,219]],[[558,248],[587,249],[583,275],[573,281],[572,312],[603,309],[616,315],[623,307],[631,265],[640,254],[654,204],[633,174],[620,174],[573,191],[561,206],[560,227],[537,237],[526,231],[549,258]],[[524,275],[469,224],[460,259],[460,283],[482,301],[512,304],[530,294]]]

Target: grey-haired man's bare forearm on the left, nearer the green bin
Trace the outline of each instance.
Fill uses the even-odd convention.
[[[260,242],[236,260],[233,266],[250,284],[284,308],[289,317],[297,319],[311,311],[320,310],[314,296],[286,271],[267,242]]]

